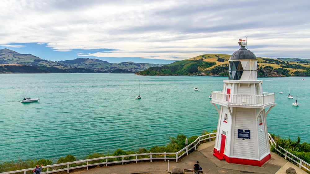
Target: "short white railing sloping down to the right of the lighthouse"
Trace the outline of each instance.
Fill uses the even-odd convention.
[[[274,148],[275,148],[280,154],[284,155],[284,156],[285,156],[285,159],[290,159],[290,160],[292,160],[294,163],[296,163],[297,165],[299,165],[299,168],[304,168],[304,169],[306,169],[308,172],[310,172],[310,169],[309,169],[309,168],[310,168],[310,164],[309,164],[309,163],[307,163],[307,162],[305,162],[304,160],[298,158],[297,156],[295,156],[294,154],[290,153],[289,151],[283,149],[282,147],[277,146],[276,142],[272,139],[272,137],[271,137],[271,135],[270,135],[269,133],[268,133],[268,138],[269,138],[270,144],[273,145]],[[279,149],[277,149],[277,148],[283,150],[285,153],[284,153],[284,152],[281,152],[281,150],[279,150]],[[289,156],[289,155],[290,155],[290,156]]]

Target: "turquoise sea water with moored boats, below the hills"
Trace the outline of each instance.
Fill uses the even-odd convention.
[[[216,129],[218,114],[208,96],[227,77],[133,74],[0,74],[0,160],[83,159],[163,146],[167,136],[190,137]],[[305,79],[305,80],[300,80]],[[310,77],[270,77],[275,92],[268,132],[310,142]],[[289,83],[294,99],[288,99]],[[141,83],[142,99],[136,100]],[[299,107],[293,107],[298,83]],[[194,91],[198,87],[198,91]],[[282,91],[283,94],[279,94]],[[21,103],[24,97],[39,102]]]

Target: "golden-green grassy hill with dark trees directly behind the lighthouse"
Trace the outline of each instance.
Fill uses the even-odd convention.
[[[230,55],[228,54],[203,54],[162,67],[150,67],[135,74],[151,76],[228,76],[229,58]],[[286,62],[262,57],[257,57],[257,62],[257,76],[259,77],[310,76],[310,62]]]

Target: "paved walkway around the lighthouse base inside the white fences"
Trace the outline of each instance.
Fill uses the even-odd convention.
[[[293,167],[297,174],[307,174],[305,171],[288,162],[279,155],[272,153],[271,159],[268,160],[262,167],[248,166],[242,164],[231,164],[226,161],[220,161],[213,156],[213,148],[215,141],[201,144],[196,151],[192,152],[185,158],[175,162],[170,161],[170,171],[174,167],[181,169],[192,169],[196,161],[199,161],[204,173],[208,174],[244,174],[244,173],[264,173],[264,174],[285,174],[286,169]],[[167,174],[168,162],[163,160],[154,160],[152,162],[144,161],[104,166],[104,167],[89,167],[89,170],[77,170],[70,172],[71,174]]]

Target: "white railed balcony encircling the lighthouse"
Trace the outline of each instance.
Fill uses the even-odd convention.
[[[212,103],[226,107],[265,108],[274,106],[274,93],[263,95],[233,95],[224,94],[223,91],[212,92]]]

